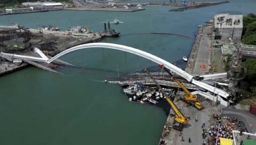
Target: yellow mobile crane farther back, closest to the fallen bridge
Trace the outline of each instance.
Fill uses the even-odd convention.
[[[179,81],[176,77],[174,77],[174,76],[167,70],[167,68],[166,68],[165,66],[159,65],[159,67],[163,68],[163,70],[165,70],[165,71],[170,75],[170,77],[173,79],[173,81],[175,81],[175,82],[180,86],[180,88],[182,88],[182,89],[184,90],[184,92],[186,93],[186,94],[184,95],[184,101],[185,101],[186,103],[193,104],[193,106],[194,106],[195,108],[201,110],[201,109],[202,109],[202,105],[201,105],[201,103],[198,102],[197,95],[191,94],[191,93],[189,92],[189,90],[187,90],[187,88],[186,88],[184,85],[182,85],[182,83],[180,83],[180,81]]]

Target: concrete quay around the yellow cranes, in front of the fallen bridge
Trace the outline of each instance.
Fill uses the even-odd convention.
[[[183,97],[184,92],[177,92],[176,99],[179,97]],[[175,100],[176,100],[175,99]],[[174,101],[175,102],[175,101]],[[165,140],[165,144],[168,145],[184,145],[184,144],[202,144],[203,142],[207,142],[207,139],[202,138],[202,128],[201,125],[205,122],[206,128],[212,124],[212,115],[220,114],[221,108],[212,107],[212,102],[208,101],[204,98],[200,97],[200,102],[204,104],[202,110],[197,110],[192,106],[185,106],[185,103],[182,101],[175,102],[176,106],[179,110],[186,116],[190,117],[189,123],[183,126],[182,132],[177,131],[175,129],[169,128],[169,133],[162,137]],[[175,114],[171,109],[170,114]],[[168,119],[165,125],[173,125],[173,120],[175,117],[172,115],[168,115]],[[198,121],[195,121],[195,116],[197,116]],[[165,129],[163,129],[164,131]],[[182,141],[182,137],[184,141]],[[191,143],[189,143],[189,138],[191,139]]]

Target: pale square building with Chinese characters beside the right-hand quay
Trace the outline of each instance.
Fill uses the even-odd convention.
[[[243,15],[215,14],[214,38],[240,40],[243,31]]]

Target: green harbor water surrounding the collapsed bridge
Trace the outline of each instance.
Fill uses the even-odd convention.
[[[87,26],[103,30],[106,20],[121,32],[109,42],[131,46],[162,59],[189,56],[197,26],[223,10],[256,13],[256,1],[168,12],[170,7],[147,6],[140,12],[55,11],[0,16],[0,25],[18,23],[29,28],[52,24],[61,30]],[[142,34],[165,32],[186,35]],[[133,35],[125,35],[133,34]],[[156,64],[129,53],[102,48],[79,50],[61,57],[78,67],[59,67],[63,74],[29,67],[0,78],[0,144],[158,144],[167,116],[162,108],[131,103],[115,84],[120,75]],[[118,70],[118,71],[117,71]]]

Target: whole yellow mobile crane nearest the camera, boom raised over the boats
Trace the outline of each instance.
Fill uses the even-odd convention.
[[[162,89],[162,87],[158,84],[158,82],[155,80],[155,78],[152,77],[152,75],[147,71],[147,68],[145,68],[144,71],[154,81],[155,85],[157,85],[158,89],[161,91],[163,96],[165,96],[165,99],[167,100],[167,102],[172,107],[172,110],[175,111],[175,121],[173,122],[172,128],[177,129],[179,131],[182,131],[182,126],[189,122],[189,118],[184,117],[184,115],[180,112],[179,108],[177,108],[175,103],[172,102],[172,100],[168,97],[168,95],[165,93],[165,91]]]

